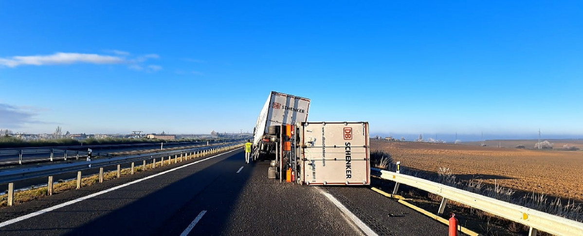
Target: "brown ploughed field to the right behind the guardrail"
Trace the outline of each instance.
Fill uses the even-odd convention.
[[[391,153],[406,167],[437,172],[449,168],[461,179],[527,192],[583,200],[583,152],[525,150],[420,142],[371,140],[371,149]]]

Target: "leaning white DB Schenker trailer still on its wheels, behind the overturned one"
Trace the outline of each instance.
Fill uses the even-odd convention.
[[[272,91],[259,113],[253,131],[253,158],[271,160],[281,125],[293,125],[308,120],[310,99]]]

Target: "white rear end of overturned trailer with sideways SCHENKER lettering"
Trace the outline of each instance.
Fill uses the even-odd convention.
[[[304,122],[298,126],[302,184],[370,185],[368,122]]]

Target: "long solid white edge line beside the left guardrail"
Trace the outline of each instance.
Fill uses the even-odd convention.
[[[204,159],[199,160],[199,161],[195,161],[195,162],[190,163],[190,164],[186,164],[186,165],[182,165],[182,166],[173,168],[171,170],[167,170],[167,171],[164,171],[164,172],[159,172],[158,174],[155,174],[155,175],[150,175],[150,176],[145,177],[145,178],[136,179],[136,180],[134,180],[132,182],[129,182],[129,183],[126,183],[126,184],[122,184],[120,186],[115,186],[113,188],[106,189],[106,190],[101,191],[101,192],[96,192],[96,193],[93,193],[92,195],[87,195],[87,196],[84,196],[84,197],[81,197],[81,198],[78,198],[78,199],[75,199],[75,200],[71,200],[69,202],[61,203],[61,204],[59,204],[57,206],[52,206],[52,207],[48,207],[47,209],[39,210],[38,212],[33,212],[33,213],[30,213],[30,214],[27,214],[27,215],[24,215],[24,216],[21,216],[21,217],[17,217],[17,218],[12,219],[12,220],[7,220],[7,221],[4,221],[4,222],[0,223],[0,228],[5,227],[5,226],[8,226],[9,224],[16,223],[18,221],[22,221],[22,220],[29,219],[31,217],[38,216],[38,215],[43,214],[43,213],[51,212],[52,210],[56,210],[56,209],[59,209],[61,207],[65,207],[65,206],[69,206],[69,205],[74,204],[74,203],[81,202],[82,200],[86,200],[86,199],[93,198],[94,196],[102,195],[103,193],[108,193],[108,192],[111,192],[111,191],[114,191],[114,190],[117,190],[117,189],[120,189],[120,188],[124,188],[125,186],[129,186],[129,185],[132,185],[132,184],[136,184],[138,182],[145,181],[146,179],[154,178],[154,177],[157,177],[157,176],[160,176],[160,175],[163,175],[163,174],[166,174],[168,172],[175,171],[175,170],[180,170],[181,168],[187,167],[189,165],[194,165],[194,164],[199,163],[201,161],[206,161],[206,160],[209,160],[210,158],[214,158],[214,157],[220,156],[222,154],[227,154],[227,153],[230,153],[230,152],[234,152],[234,151],[239,150],[239,149],[240,148],[234,149],[234,150],[230,150],[229,152],[221,153],[221,154],[218,154],[218,155],[215,155],[215,156],[212,156],[212,157],[207,157],[207,158],[204,158]]]

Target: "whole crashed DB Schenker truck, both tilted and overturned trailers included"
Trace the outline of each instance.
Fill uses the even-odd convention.
[[[280,108],[284,104],[287,108]],[[301,185],[370,185],[368,122],[307,122],[309,106],[309,99],[289,94],[272,92],[268,98],[253,149],[254,157],[271,160],[268,178]]]

